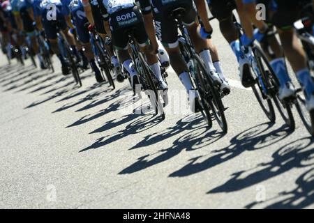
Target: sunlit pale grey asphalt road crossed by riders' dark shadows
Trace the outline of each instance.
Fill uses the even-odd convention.
[[[126,107],[127,82],[112,91],[88,70],[77,88],[55,57],[52,74],[1,54],[0,208],[314,208],[311,137],[295,109],[294,132],[268,122],[214,27],[232,84],[225,135],[183,109],[173,70],[162,121],[139,112],[145,95]]]

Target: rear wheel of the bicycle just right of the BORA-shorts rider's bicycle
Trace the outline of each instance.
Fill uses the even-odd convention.
[[[193,62],[195,64],[195,74],[197,75],[197,79],[202,86],[202,94],[205,104],[208,108],[213,112],[218,125],[223,130],[223,132],[227,132],[227,121],[225,118],[225,107],[223,106],[223,102],[218,96],[217,89],[214,86],[214,82],[209,76],[209,73],[206,71],[204,67],[204,63],[200,59],[200,56],[195,54],[193,56]],[[206,112],[206,111],[205,111]],[[207,119],[209,116],[207,116]],[[210,116],[211,118],[211,116]]]

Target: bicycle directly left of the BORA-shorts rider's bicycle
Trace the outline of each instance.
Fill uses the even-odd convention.
[[[98,65],[101,70],[101,75],[103,76],[103,79],[105,79],[103,73],[105,73],[108,82],[110,86],[112,86],[112,89],[116,89],[116,86],[114,84],[114,80],[112,78],[113,75],[113,65],[110,61],[110,56],[107,53],[107,50],[105,49],[105,43],[103,43],[103,38],[101,38],[94,30],[91,31],[91,44],[94,48],[94,53],[96,57],[98,58]]]

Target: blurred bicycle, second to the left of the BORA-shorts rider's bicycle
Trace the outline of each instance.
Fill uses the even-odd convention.
[[[72,72],[72,75],[75,79],[76,84],[79,84],[80,86],[82,86],[82,80],[80,78],[79,71],[77,70],[77,64],[75,63],[73,59],[74,55],[73,55],[70,45],[68,44],[68,41],[66,40],[66,37],[61,31],[57,32],[57,37],[59,39],[59,44],[61,47],[61,51],[63,52],[63,56],[66,57],[66,61],[68,61],[69,63],[70,70]]]

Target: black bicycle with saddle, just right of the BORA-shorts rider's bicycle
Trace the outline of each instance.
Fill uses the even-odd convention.
[[[179,47],[184,60],[190,65],[190,79],[193,82],[195,91],[197,91],[200,96],[202,116],[207,121],[209,128],[211,128],[213,125],[212,112],[218,125],[223,132],[226,133],[228,127],[225,118],[225,107],[221,100],[224,94],[220,91],[220,86],[214,84],[211,73],[209,73],[204,66],[204,61],[202,61],[200,56],[195,52],[188,31],[181,19],[184,13],[184,8],[176,8],[172,10],[170,16],[177,20],[181,32],[181,34],[179,34]]]

